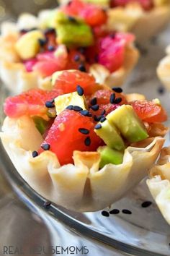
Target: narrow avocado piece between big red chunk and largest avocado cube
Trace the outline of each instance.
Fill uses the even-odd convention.
[[[94,132],[104,140],[109,148],[115,148],[116,150],[124,150],[125,144],[114,124],[110,124],[108,120],[102,123],[98,123],[101,128],[94,129]]]

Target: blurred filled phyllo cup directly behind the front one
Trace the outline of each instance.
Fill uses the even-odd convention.
[[[135,36],[107,30],[107,13],[79,0],[38,17],[22,14],[1,26],[0,75],[14,93],[48,89],[65,69],[91,72],[97,82],[122,85],[138,61]]]

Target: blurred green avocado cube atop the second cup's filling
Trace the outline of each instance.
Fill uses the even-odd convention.
[[[57,42],[68,47],[91,46],[94,42],[91,27],[84,22],[68,22],[58,25]]]

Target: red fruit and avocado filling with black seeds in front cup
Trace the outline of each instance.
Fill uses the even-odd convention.
[[[4,112],[10,118],[30,116],[44,141],[37,157],[50,150],[61,165],[73,163],[73,151],[97,151],[100,168],[122,163],[124,150],[145,140],[167,116],[158,99],[131,101],[121,88],[107,88],[91,74],[78,70],[56,72],[53,90],[29,90],[6,98]],[[134,96],[133,96],[134,98]]]

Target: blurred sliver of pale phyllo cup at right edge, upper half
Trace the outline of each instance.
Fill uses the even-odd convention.
[[[170,90],[170,46],[166,48],[166,57],[158,64],[157,74],[161,82]]]

